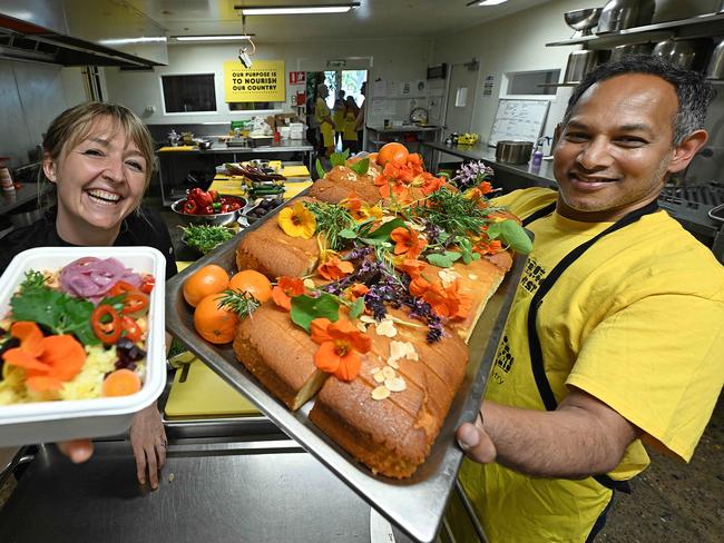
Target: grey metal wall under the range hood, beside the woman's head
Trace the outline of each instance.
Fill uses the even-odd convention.
[[[50,121],[86,100],[79,68],[0,61],[0,156],[28,164]]]

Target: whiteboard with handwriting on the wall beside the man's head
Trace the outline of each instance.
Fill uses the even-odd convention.
[[[489,146],[505,139],[522,139],[534,144],[540,137],[550,100],[498,100],[496,119],[488,138]]]

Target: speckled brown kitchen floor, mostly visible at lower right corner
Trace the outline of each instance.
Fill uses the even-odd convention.
[[[159,203],[150,200],[154,207]],[[164,210],[172,240],[180,251],[178,218]],[[183,251],[182,251],[183,253]],[[724,397],[691,464],[652,454],[652,466],[618,494],[597,542],[721,542],[724,539]],[[0,488],[0,507],[12,492],[10,477]],[[521,542],[522,543],[522,542]]]

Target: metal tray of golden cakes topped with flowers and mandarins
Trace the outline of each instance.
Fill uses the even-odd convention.
[[[489,186],[458,190],[412,155],[384,172],[360,161],[333,160],[330,178],[174,277],[167,327],[432,541],[462,461],[456,430],[476,418],[525,266],[507,249],[530,239]]]

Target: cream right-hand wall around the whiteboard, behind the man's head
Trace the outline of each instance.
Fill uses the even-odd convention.
[[[436,37],[432,62],[462,63],[472,57],[480,60],[478,88],[472,113],[472,131],[487,140],[496,115],[500,96],[502,75],[510,71],[566,69],[568,53],[580,49],[571,47],[545,47],[552,41],[570,38],[573,30],[565,23],[564,13],[574,9],[605,6],[605,0],[555,0],[549,3],[518,12],[505,19],[479,24],[454,34]],[[711,13],[718,6],[717,0],[657,0],[654,21],[677,20],[702,13]],[[718,38],[716,38],[718,39]],[[482,81],[492,76],[495,85],[491,96],[482,96]],[[551,101],[544,135],[552,136],[556,124],[561,119],[570,88],[558,88]],[[722,179],[724,175],[724,87],[718,87],[718,97],[710,107],[707,119],[711,140],[708,150],[695,158],[687,170],[689,181]],[[724,179],[722,179],[724,180]]]

